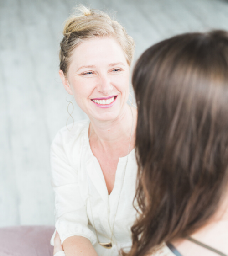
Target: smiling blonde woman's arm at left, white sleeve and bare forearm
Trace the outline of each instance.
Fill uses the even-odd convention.
[[[51,147],[56,229],[66,256],[97,256],[92,245],[97,239],[88,228],[86,206],[80,196],[77,168],[70,164],[70,154],[66,153],[63,139],[61,134],[57,134]]]

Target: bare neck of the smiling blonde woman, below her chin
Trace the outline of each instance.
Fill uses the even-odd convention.
[[[114,144],[118,145],[122,140],[129,139],[132,129],[132,113],[133,112],[133,136],[132,141],[134,141],[135,126],[137,119],[137,112],[134,108],[130,109],[127,104],[124,107],[122,113],[110,121],[99,121],[90,118],[91,125],[89,128],[89,134],[93,141],[97,140],[103,146],[112,146]]]

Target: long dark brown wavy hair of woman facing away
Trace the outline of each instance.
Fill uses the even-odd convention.
[[[132,78],[138,106],[139,216],[128,256],[207,224],[228,184],[228,32],[186,33],[150,47]]]

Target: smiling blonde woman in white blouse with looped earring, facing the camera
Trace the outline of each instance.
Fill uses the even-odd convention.
[[[64,27],[59,75],[89,121],[62,128],[52,143],[56,230],[67,256],[117,256],[131,246],[136,213],[134,41],[104,12],[77,11]]]

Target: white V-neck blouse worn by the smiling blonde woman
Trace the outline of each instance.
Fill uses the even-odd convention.
[[[90,148],[88,127],[88,120],[74,123],[71,132],[64,127],[52,142],[55,226],[62,243],[70,236],[80,235],[91,241],[98,256],[117,256],[119,249],[128,251],[131,246],[130,227],[136,216],[133,207],[137,174],[135,150],[129,154],[125,177],[127,156],[119,158],[114,188],[109,195],[99,162]],[[106,249],[98,244],[95,229],[100,242],[109,242],[113,223],[113,247]],[[54,236],[55,233],[51,245]]]

